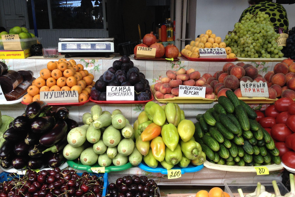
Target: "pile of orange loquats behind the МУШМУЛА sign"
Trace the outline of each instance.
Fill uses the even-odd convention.
[[[78,91],[78,101],[85,102],[89,99],[94,86],[94,76],[84,70],[82,64],[75,60],[59,59],[47,63],[47,69],[40,71],[40,77],[35,79],[27,89],[23,102],[30,103],[40,100],[40,92],[44,91]]]

